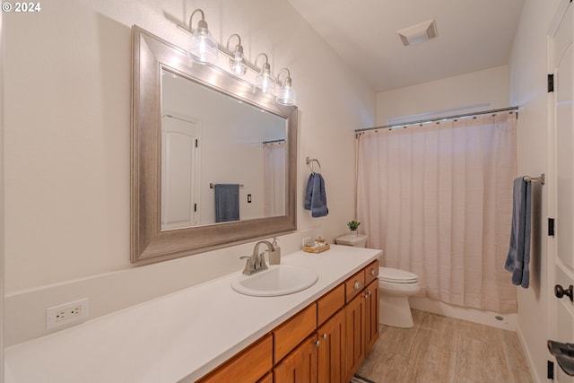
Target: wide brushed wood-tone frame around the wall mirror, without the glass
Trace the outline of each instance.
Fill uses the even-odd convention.
[[[130,253],[147,264],[225,248],[297,230],[297,107],[252,91],[252,85],[138,26],[133,35]],[[161,69],[220,91],[286,119],[285,215],[161,231]]]

